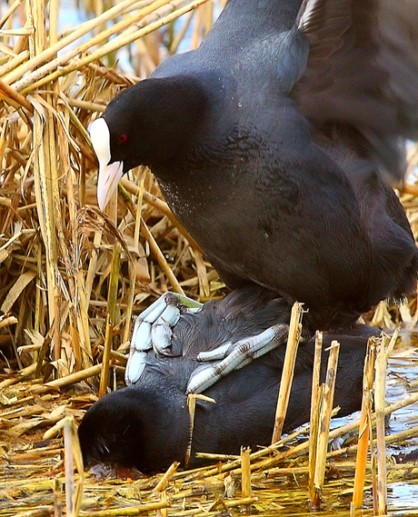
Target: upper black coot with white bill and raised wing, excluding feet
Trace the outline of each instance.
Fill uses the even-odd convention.
[[[415,0],[229,0],[202,45],[92,126],[98,194],[149,165],[231,288],[264,285],[336,329],[413,291],[388,180],[418,137]],[[109,165],[109,166],[108,166]]]

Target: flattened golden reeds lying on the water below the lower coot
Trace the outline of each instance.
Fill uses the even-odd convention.
[[[409,349],[405,357],[410,357],[412,352]],[[416,372],[416,354],[412,367]],[[34,386],[33,381],[23,381],[2,390],[2,516],[52,515],[60,509],[68,509],[65,497],[71,483],[66,479],[68,472],[65,472],[65,462],[69,457],[73,461],[73,456],[75,465],[78,465],[78,473],[70,478],[75,493],[77,485],[84,482],[79,515],[155,514],[164,509],[172,516],[219,515],[234,514],[234,508],[247,508],[252,514],[261,512],[264,515],[293,516],[309,512],[308,475],[311,467],[306,427],[264,449],[243,451],[242,457],[212,457],[212,465],[191,471],[179,470],[178,465],[174,464],[167,472],[151,477],[144,477],[132,470],[114,471],[104,467],[83,475],[72,421],[82,418],[85,409],[96,400],[96,395],[82,390],[80,384],[65,393],[52,388],[48,393],[36,393]],[[389,487],[391,483],[404,483],[406,486],[406,483],[416,483],[418,480],[416,453],[399,454],[408,441],[414,444],[415,449],[418,441],[416,386],[408,388],[407,394],[407,397],[383,410],[383,414],[387,415],[393,411],[399,412],[402,407],[414,408],[414,425],[405,425],[404,431],[386,436],[386,482]],[[376,415],[370,413],[373,426],[375,419]],[[361,421],[355,420],[330,432],[331,440],[347,442],[343,443],[342,448],[326,454],[325,481],[321,492],[321,514],[325,516],[350,514],[357,441],[347,432],[353,432],[359,425]],[[67,436],[63,442],[60,429],[65,427]],[[343,438],[346,436],[348,438]],[[364,476],[367,509],[356,514],[373,514],[372,486],[373,463],[369,456]],[[416,510],[403,510],[403,514],[414,515]]]

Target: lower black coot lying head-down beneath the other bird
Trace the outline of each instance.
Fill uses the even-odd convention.
[[[140,383],[105,395],[85,413],[78,431],[85,464],[116,462],[154,472],[183,462],[190,436],[185,391],[198,365],[197,353],[288,319],[287,303],[272,300],[271,293],[256,285],[205,303],[200,313],[184,314],[174,327],[173,343],[182,353],[148,353]],[[323,348],[333,339],[342,344],[333,404],[341,406],[340,415],[360,409],[365,343],[376,333],[357,325],[340,335],[324,334]],[[239,453],[241,445],[255,450],[271,442],[284,353],[285,345],[204,392],[216,403],[197,401],[190,466],[198,463],[194,452]],[[323,352],[323,370],[327,355]],[[313,362],[311,340],[299,346],[284,432],[309,421]]]

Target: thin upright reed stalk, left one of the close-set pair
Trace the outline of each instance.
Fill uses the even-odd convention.
[[[322,387],[320,385],[322,351],[323,333],[316,332],[314,372],[312,378],[311,395],[311,420],[309,425],[309,499],[311,501],[314,501],[315,497],[314,472],[318,447],[319,418],[322,399]]]

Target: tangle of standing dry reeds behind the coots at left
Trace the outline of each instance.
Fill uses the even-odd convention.
[[[151,298],[174,289],[207,299],[222,287],[143,168],[124,179],[130,194],[110,219],[92,208],[97,164],[87,132],[114,94],[136,80],[100,59],[113,63],[134,42],[137,74],[148,75],[156,56],[179,45],[184,26],[199,43],[213,5],[124,0],[98,10],[61,33],[56,0],[12,3],[0,20],[0,347],[14,351],[24,368],[46,346],[36,373],[45,359],[57,378],[93,366],[104,340],[105,354],[109,342],[110,352],[125,343],[132,314]],[[177,32],[174,20],[184,14]],[[151,35],[164,25],[172,34],[168,47]],[[111,254],[116,242],[119,256]],[[35,348],[20,356],[23,344]]]

